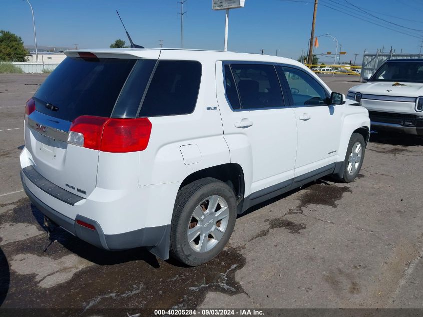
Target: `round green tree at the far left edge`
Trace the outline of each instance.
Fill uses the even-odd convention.
[[[27,54],[28,51],[19,36],[0,30],[0,61],[25,62]]]

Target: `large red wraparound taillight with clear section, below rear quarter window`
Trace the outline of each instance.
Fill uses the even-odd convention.
[[[72,122],[68,143],[103,152],[135,152],[147,148],[150,133],[147,118],[81,116]]]

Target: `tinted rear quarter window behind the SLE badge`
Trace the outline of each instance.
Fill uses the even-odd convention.
[[[199,62],[160,61],[138,116],[168,116],[193,112],[200,81]]]

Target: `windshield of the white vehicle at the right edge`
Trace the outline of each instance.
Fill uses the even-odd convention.
[[[423,62],[385,63],[371,81],[423,83]]]

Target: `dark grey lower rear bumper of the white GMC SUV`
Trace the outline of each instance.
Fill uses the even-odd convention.
[[[39,175],[38,177],[43,177]],[[78,238],[105,250],[125,250],[145,246],[150,252],[162,259],[169,258],[170,224],[158,227],[146,227],[134,231],[119,234],[104,234],[100,224],[90,218],[77,215],[75,220],[54,210],[34,195],[26,182],[31,181],[21,170],[21,180],[25,193],[31,202],[49,219],[69,231]],[[37,185],[40,189],[39,184]],[[51,185],[51,184],[49,184]],[[53,184],[53,186],[56,186]],[[43,190],[43,189],[42,189]],[[52,195],[54,197],[54,195]],[[58,199],[57,197],[55,197]],[[95,230],[79,225],[76,221],[81,220],[95,227]]]

